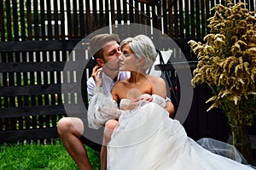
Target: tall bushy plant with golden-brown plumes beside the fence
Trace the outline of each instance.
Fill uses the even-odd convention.
[[[213,7],[210,33],[203,42],[189,44],[198,58],[192,85],[207,83],[212,89],[207,111],[219,107],[226,114],[231,143],[251,163],[251,150],[240,147],[247,143],[246,127],[253,124],[256,113],[256,13],[246,5],[227,0]]]

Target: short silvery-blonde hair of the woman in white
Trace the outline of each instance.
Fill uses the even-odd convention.
[[[122,49],[125,44],[129,45],[137,59],[141,59],[142,57],[145,58],[145,62],[143,64],[143,69],[145,71],[151,68],[156,59],[157,52],[154,48],[154,43],[149,37],[145,35],[127,37],[121,42],[120,49]]]

